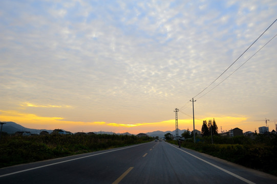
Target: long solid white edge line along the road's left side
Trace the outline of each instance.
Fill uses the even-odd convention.
[[[147,144],[147,143],[143,143],[143,144]],[[103,152],[103,153],[97,153],[97,154],[93,154],[93,155],[73,158],[73,159],[61,161],[61,162],[58,162],[58,163],[53,163],[53,164],[48,164],[48,165],[44,165],[44,166],[34,167],[34,168],[25,169],[25,170],[21,170],[21,171],[16,171],[16,172],[8,173],[8,174],[3,174],[3,175],[0,175],[0,178],[4,177],[4,176],[9,176],[9,175],[17,174],[17,173],[22,173],[22,172],[26,172],[26,171],[31,171],[31,170],[39,169],[39,168],[53,166],[53,165],[56,165],[56,164],[62,164],[62,163],[70,162],[70,161],[77,160],[77,159],[87,158],[87,157],[91,157],[91,156],[96,156],[96,155],[100,155],[100,154],[110,153],[110,152],[119,151],[119,150],[128,149],[128,148],[133,148],[133,147],[140,146],[140,145],[143,145],[143,144],[134,145],[134,146],[126,147],[126,148],[121,148],[121,149],[117,149],[117,150],[106,151],[106,152]]]

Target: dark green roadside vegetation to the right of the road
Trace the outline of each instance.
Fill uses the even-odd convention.
[[[216,156],[242,166],[261,170],[277,176],[277,135],[255,134],[254,139],[248,136],[210,136],[197,137],[182,142],[182,147]],[[171,143],[177,144],[176,141]]]

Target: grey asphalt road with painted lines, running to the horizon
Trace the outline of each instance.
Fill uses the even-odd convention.
[[[277,177],[162,141],[2,168],[0,183],[277,183]]]

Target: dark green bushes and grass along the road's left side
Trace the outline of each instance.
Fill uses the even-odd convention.
[[[0,168],[151,141],[148,139],[116,134],[31,136],[2,134]]]

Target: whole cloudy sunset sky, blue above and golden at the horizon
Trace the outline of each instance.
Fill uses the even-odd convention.
[[[175,130],[177,108],[191,131],[194,98],[195,129],[259,133],[269,119],[271,131],[277,22],[262,33],[276,12],[275,0],[0,1],[0,121],[137,134]]]

